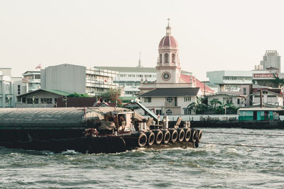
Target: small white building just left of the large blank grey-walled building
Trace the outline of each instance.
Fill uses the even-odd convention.
[[[40,89],[40,71],[26,71],[22,75],[28,82],[28,92]]]

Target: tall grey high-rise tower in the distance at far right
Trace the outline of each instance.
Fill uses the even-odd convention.
[[[277,50],[266,50],[266,54],[261,60],[261,67],[263,70],[273,69],[274,73],[281,72],[280,56]]]

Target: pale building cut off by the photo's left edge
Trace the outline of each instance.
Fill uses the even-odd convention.
[[[27,92],[21,77],[12,77],[11,68],[0,68],[0,108],[15,107],[16,96]]]

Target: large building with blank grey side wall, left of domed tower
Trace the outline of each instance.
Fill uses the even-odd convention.
[[[95,96],[109,88],[118,88],[119,84],[114,84],[117,74],[118,71],[60,64],[41,69],[40,84],[43,89]]]

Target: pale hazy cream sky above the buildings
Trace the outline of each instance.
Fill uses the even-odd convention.
[[[0,0],[0,67],[12,76],[57,64],[155,67],[170,18],[180,65],[251,70],[266,50],[284,55],[284,1]],[[284,67],[281,68],[283,71]]]

